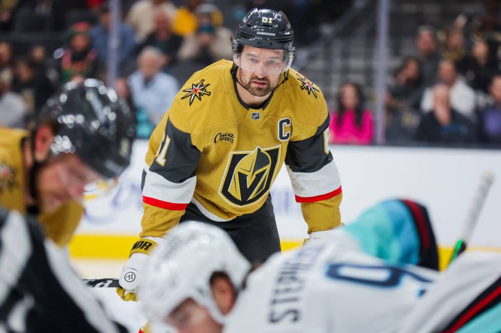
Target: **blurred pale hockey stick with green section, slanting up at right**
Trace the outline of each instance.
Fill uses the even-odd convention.
[[[482,178],[480,180],[479,187],[476,190],[475,197],[473,198],[473,202],[471,203],[470,210],[468,211],[468,215],[466,215],[466,219],[463,223],[463,228],[461,233],[459,234],[459,239],[454,246],[454,250],[449,260],[450,263],[458,257],[468,246],[468,242],[471,238],[471,234],[473,233],[473,228],[476,225],[476,222],[479,219],[480,212],[482,211],[482,207],[484,206],[485,199],[487,198],[487,194],[491,188],[492,183],[494,183],[495,176],[491,172],[484,172]]]

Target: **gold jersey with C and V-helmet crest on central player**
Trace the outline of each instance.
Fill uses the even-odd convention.
[[[221,60],[193,74],[153,131],[141,237],[161,237],[189,202],[216,222],[253,213],[285,161],[308,232],[340,224],[341,184],[320,89],[290,69],[262,109],[241,103]]]

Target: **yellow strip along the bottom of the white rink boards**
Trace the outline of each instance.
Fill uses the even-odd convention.
[[[80,234],[73,237],[70,242],[70,255],[74,259],[126,260],[132,245],[138,239],[139,237],[135,236]],[[287,251],[301,246],[303,241],[285,239],[280,243],[282,251]],[[468,251],[501,252],[501,248],[471,247]],[[451,253],[452,247],[439,247],[440,269],[447,266]]]

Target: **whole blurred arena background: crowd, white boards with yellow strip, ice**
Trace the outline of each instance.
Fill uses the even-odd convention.
[[[230,37],[254,7],[286,13],[292,67],[326,97],[345,223],[382,199],[418,200],[443,264],[490,170],[472,248],[501,251],[499,0],[0,0],[0,125],[25,127],[62,84],[85,78],[115,87],[138,118],[131,166],[86,194],[70,245],[82,276],[119,275],[140,231],[147,139],[194,71],[231,60]],[[271,197],[282,248],[302,244],[284,170]],[[136,305],[101,294],[137,331]]]

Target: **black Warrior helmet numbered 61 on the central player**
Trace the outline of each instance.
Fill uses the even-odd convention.
[[[282,11],[271,9],[250,10],[238,24],[233,37],[233,60],[241,67],[243,46],[283,50],[284,63],[280,72],[290,68],[294,57],[294,32]]]

